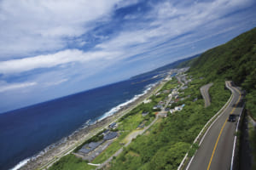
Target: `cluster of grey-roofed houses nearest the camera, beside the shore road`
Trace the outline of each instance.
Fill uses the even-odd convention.
[[[102,135],[103,139],[97,142],[90,142],[89,144],[84,144],[84,146],[79,150],[82,154],[89,154],[91,151],[95,150],[98,146],[103,144],[105,141],[114,139],[118,136],[119,133],[112,132],[110,129],[114,129],[117,127],[117,123],[113,122],[109,126],[109,129],[105,130]]]

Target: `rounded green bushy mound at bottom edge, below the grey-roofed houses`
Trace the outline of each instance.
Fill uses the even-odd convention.
[[[94,166],[90,166],[87,164],[87,161],[82,160],[72,154],[68,154],[67,156],[61,157],[59,161],[56,161],[53,166],[49,167],[49,170],[90,170],[95,169]]]

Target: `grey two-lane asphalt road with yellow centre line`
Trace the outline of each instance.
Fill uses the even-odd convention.
[[[212,127],[209,128],[205,138],[201,139],[200,148],[195,156],[190,159],[186,169],[230,169],[236,123],[242,110],[242,104],[239,89],[232,87],[230,82],[226,82],[226,86],[230,87],[233,99],[231,99],[230,105],[218,116]],[[236,122],[227,122],[230,113],[236,114]]]

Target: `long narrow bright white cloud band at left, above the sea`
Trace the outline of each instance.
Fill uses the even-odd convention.
[[[96,60],[115,59],[119,53],[108,51],[96,51],[84,53],[78,49],[67,49],[55,54],[38,55],[25,59],[11,59],[0,62],[0,73],[14,74],[23,71],[32,71],[38,68],[50,68],[73,62],[87,63]]]

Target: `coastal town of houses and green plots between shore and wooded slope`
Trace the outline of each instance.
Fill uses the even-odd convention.
[[[73,151],[73,155],[88,161],[88,165],[100,169],[108,165],[113,157],[119,156],[124,147],[131,144],[132,139],[136,139],[137,135],[145,133],[159,119],[178,114],[179,111],[182,111],[185,104],[177,104],[180,104],[184,99],[189,99],[189,95],[183,96],[183,91],[188,88],[189,82],[193,80],[192,77],[187,77],[184,74],[187,69],[176,70],[175,77],[171,77],[174,71],[170,71],[163,81],[160,82],[160,88],[157,88],[148,98],[143,99],[142,105],[152,105],[155,101],[160,101],[151,108],[138,110],[140,113],[138,115],[140,119],[138,120],[140,122],[137,127],[124,128],[124,122],[130,116],[123,116],[118,121],[108,124],[107,128],[102,129],[100,133],[94,136],[94,139],[85,141],[79,147],[79,150]],[[196,99],[193,100],[196,101]],[[117,143],[119,143],[119,150],[116,148],[111,150],[111,146]],[[113,152],[113,154],[102,159],[102,156],[104,157],[104,154],[107,152]]]

